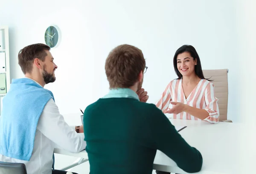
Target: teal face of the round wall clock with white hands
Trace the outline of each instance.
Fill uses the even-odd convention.
[[[45,43],[49,47],[53,48],[58,44],[58,40],[59,40],[58,30],[56,29],[55,26],[49,26],[44,34]]]

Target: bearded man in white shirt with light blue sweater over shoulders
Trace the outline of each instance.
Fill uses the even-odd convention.
[[[85,149],[83,126],[64,121],[51,91],[57,65],[45,44],[32,44],[18,54],[25,78],[13,79],[0,116],[0,161],[26,165],[28,174],[66,174],[54,170],[55,147],[76,153]]]

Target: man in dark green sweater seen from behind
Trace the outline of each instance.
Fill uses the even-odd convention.
[[[201,170],[200,152],[154,104],[140,102],[136,92],[146,70],[143,53],[134,46],[117,46],[108,55],[110,92],[84,110],[90,174],[152,174],[157,150],[186,172]]]

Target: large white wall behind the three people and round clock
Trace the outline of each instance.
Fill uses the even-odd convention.
[[[19,49],[44,43],[50,24],[62,32],[52,55],[57,80],[46,87],[63,114],[79,113],[108,92],[105,58],[119,44],[143,50],[149,67],[143,87],[154,103],[173,78],[172,58],[183,44],[195,46],[203,69],[228,68],[228,119],[239,121],[236,4],[233,0],[3,1],[0,24],[10,27],[11,78],[23,76]],[[153,82],[156,81],[156,82]]]

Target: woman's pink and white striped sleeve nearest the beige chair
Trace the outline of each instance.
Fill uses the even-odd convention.
[[[207,85],[204,93],[204,99],[206,103],[205,110],[209,113],[209,116],[204,120],[210,123],[218,123],[220,114],[218,108],[218,99],[215,97],[214,93],[214,84],[209,83]]]

